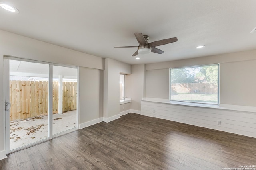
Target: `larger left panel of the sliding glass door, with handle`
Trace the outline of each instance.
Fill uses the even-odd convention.
[[[49,138],[49,65],[9,60],[10,150]]]

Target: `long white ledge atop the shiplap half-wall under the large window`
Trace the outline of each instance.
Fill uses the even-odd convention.
[[[223,109],[223,110],[244,111],[244,112],[256,113],[256,107],[253,107],[253,106],[238,106],[238,105],[230,105],[230,104],[220,104],[218,106],[215,104],[198,104],[198,103],[190,103],[190,102],[177,102],[177,101],[170,101],[169,99],[160,99],[160,98],[142,98],[142,101],[158,102],[158,103],[180,105],[180,106],[205,107],[205,108],[212,108],[212,109]]]

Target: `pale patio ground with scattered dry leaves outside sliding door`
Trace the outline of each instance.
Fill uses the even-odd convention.
[[[53,135],[77,127],[76,110],[53,115]],[[10,121],[10,150],[46,139],[48,116]]]

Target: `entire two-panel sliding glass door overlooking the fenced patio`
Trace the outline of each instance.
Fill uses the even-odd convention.
[[[77,129],[77,68],[5,57],[6,150]]]

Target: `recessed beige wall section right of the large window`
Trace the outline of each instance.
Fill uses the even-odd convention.
[[[256,60],[220,64],[220,103],[256,106]]]

